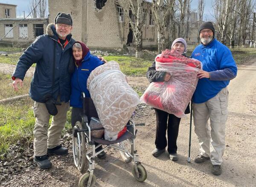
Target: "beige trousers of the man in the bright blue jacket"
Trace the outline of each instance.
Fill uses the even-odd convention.
[[[210,157],[213,165],[222,163],[225,149],[225,123],[227,121],[227,87],[208,101],[193,103],[195,134],[198,136],[200,154]],[[208,120],[210,119],[210,127]]]

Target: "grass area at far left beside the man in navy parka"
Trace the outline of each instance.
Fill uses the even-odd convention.
[[[24,79],[23,88],[19,92],[15,92],[12,88],[11,75],[0,73],[0,84],[0,100],[2,100],[28,93],[30,78]],[[18,140],[28,143],[32,141],[35,124],[33,103],[31,98],[26,97],[12,103],[0,104],[0,155],[7,152],[9,146],[17,143]],[[70,122],[71,109],[67,113],[65,129],[71,129]]]

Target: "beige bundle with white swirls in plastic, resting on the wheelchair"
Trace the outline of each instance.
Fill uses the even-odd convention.
[[[105,128],[105,139],[116,140],[139,104],[139,95],[128,85],[115,61],[94,69],[87,80],[87,89]]]

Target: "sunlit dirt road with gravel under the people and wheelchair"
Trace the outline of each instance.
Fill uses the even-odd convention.
[[[180,159],[169,160],[167,152],[154,158],[155,116],[145,107],[145,114],[136,122],[145,122],[138,127],[136,147],[140,161],[147,170],[148,178],[137,182],[131,174],[132,163],[125,164],[119,153],[108,150],[105,160],[96,164],[96,187],[255,187],[256,186],[256,59],[249,66],[239,66],[237,77],[229,85],[229,115],[226,124],[226,150],[222,164],[223,174],[211,174],[211,163],[194,163],[199,153],[198,141],[192,132],[192,161],[187,162],[189,144],[189,115],[180,124],[177,153]],[[1,65],[0,65],[1,66]],[[147,86],[145,78],[128,77],[133,86]],[[70,146],[69,142],[64,142]],[[73,164],[70,154],[51,157],[52,169],[28,170],[15,175],[4,186],[76,187],[81,174]],[[0,186],[3,186],[0,184]]]

